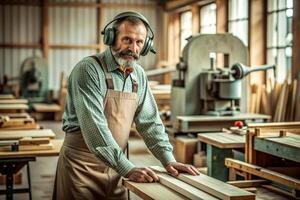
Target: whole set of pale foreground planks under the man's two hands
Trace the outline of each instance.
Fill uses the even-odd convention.
[[[179,174],[173,177],[164,168],[153,166],[159,183],[141,184],[123,181],[123,185],[143,199],[255,199],[255,195],[204,174]],[[145,185],[147,185],[145,187]]]

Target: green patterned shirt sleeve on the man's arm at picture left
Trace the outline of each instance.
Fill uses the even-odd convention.
[[[100,84],[100,78],[105,80],[104,74],[99,75],[95,66],[81,61],[70,75],[69,92],[89,150],[107,166],[125,176],[134,165],[127,159],[108,128],[103,107],[105,94],[101,93],[103,88],[100,88],[106,85]]]

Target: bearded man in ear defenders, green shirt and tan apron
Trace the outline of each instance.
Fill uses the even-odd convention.
[[[147,76],[137,64],[140,55],[153,51],[147,19],[125,12],[112,22],[103,31],[109,47],[81,60],[69,76],[54,199],[126,199],[121,176],[158,181],[151,169],[135,167],[124,154],[133,122],[168,172],[199,174],[174,159]]]

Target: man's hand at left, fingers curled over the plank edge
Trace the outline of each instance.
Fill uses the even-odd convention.
[[[131,181],[138,183],[151,183],[159,180],[158,176],[148,167],[135,167],[126,175]]]

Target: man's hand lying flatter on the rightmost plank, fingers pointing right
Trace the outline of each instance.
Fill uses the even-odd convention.
[[[192,165],[186,165],[178,162],[171,162],[165,167],[173,176],[178,176],[180,172],[187,172],[191,175],[200,175],[199,171]]]

